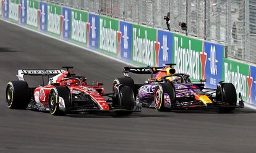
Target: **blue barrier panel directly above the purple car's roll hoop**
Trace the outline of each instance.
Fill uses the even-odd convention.
[[[158,57],[158,65],[164,66],[166,63],[172,63],[172,49],[173,49],[173,33],[169,31],[158,30],[158,43],[160,43]]]

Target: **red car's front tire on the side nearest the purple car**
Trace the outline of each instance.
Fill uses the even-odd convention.
[[[119,88],[118,101],[121,109],[116,112],[117,115],[130,115],[134,109],[134,92],[129,86],[121,86]]]

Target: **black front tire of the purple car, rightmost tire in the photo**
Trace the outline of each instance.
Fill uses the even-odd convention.
[[[237,94],[236,88],[232,83],[221,83],[217,87],[216,91],[216,99],[218,101],[223,101],[228,103],[229,105],[236,106]],[[220,107],[220,112],[231,112],[235,107]]]

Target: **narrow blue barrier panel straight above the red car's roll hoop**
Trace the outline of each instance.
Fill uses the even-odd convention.
[[[71,10],[67,7],[62,7],[63,23],[61,24],[63,39],[70,39],[70,23],[71,23]]]

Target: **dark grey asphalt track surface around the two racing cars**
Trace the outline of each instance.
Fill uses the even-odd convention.
[[[255,152],[256,111],[157,112],[55,117],[6,107],[5,88],[21,68],[73,65],[77,75],[105,83],[127,66],[93,52],[0,21],[0,152]],[[139,78],[143,80],[143,78]],[[32,80],[33,81],[33,80]]]

